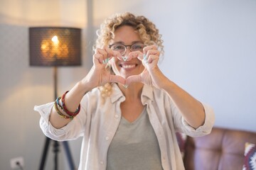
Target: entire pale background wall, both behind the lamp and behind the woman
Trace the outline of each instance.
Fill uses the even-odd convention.
[[[89,26],[88,8],[93,11],[87,16],[93,18]],[[52,69],[28,65],[28,26],[83,28],[83,65],[59,69],[62,94],[90,69],[95,28],[122,11],[145,15],[156,23],[165,45],[161,70],[213,106],[216,126],[256,131],[256,1],[95,0],[90,8],[82,0],[1,0],[0,169],[10,169],[9,159],[19,156],[24,157],[26,169],[38,169],[45,137],[33,106],[53,100]],[[80,140],[69,143],[78,164]],[[46,169],[53,169],[49,152]],[[67,166],[65,161],[61,153],[61,169]]]

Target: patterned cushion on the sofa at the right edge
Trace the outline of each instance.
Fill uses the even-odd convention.
[[[245,143],[245,160],[242,170],[256,170],[256,145]]]

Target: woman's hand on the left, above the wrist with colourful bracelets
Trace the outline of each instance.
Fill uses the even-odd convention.
[[[111,82],[125,84],[123,77],[110,74],[110,71],[107,70],[107,62],[111,60],[112,57],[117,57],[119,60],[122,60],[122,55],[119,52],[110,50],[107,45],[102,49],[97,48],[95,55],[93,55],[93,66],[82,81],[87,85],[90,84],[91,89]]]

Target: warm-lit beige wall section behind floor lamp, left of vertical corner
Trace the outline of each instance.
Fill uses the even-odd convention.
[[[82,0],[72,4],[59,0],[0,1],[0,169],[11,170],[9,160],[15,157],[24,158],[24,169],[38,169],[46,140],[39,128],[40,115],[33,111],[33,106],[53,101],[53,69],[29,66],[28,27],[82,28],[82,67],[58,69],[58,94],[62,94],[82,79],[91,67],[90,57],[85,57],[86,8]],[[69,142],[76,166],[80,142]],[[62,145],[58,155],[59,169],[68,169]],[[45,169],[53,169],[53,162],[51,142]]]

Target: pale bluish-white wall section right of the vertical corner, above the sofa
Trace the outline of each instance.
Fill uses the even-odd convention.
[[[154,21],[164,39],[164,74],[213,106],[216,126],[256,131],[256,1],[97,0],[94,9],[96,24],[113,11]]]

